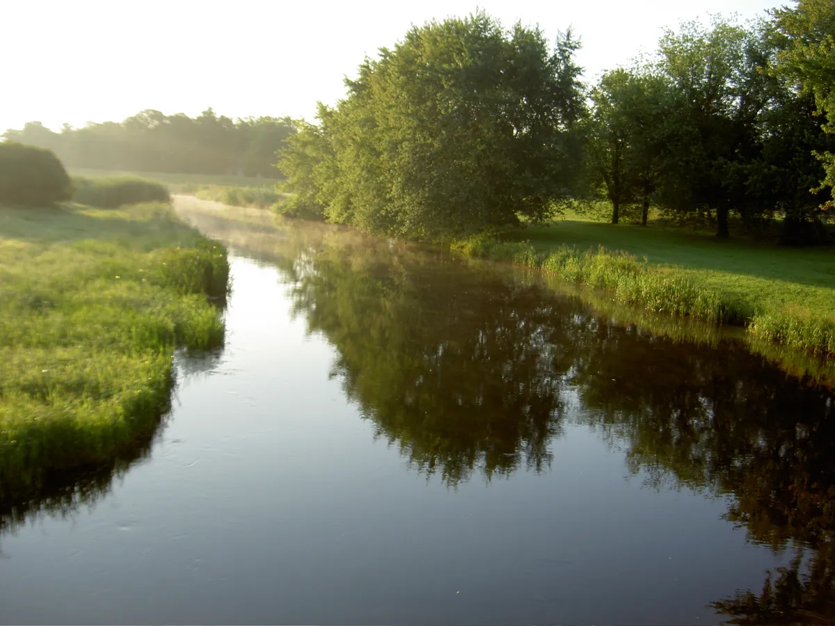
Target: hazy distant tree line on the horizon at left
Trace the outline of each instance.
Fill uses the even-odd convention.
[[[295,133],[289,118],[233,121],[212,109],[195,118],[146,110],[120,123],[64,124],[60,133],[29,122],[3,139],[51,149],[69,168],[276,178],[276,150]]]

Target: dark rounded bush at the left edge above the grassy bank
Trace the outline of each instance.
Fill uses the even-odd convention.
[[[71,195],[67,170],[52,150],[0,143],[0,202],[43,206]]]

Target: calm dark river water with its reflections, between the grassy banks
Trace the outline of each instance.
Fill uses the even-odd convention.
[[[135,458],[6,516],[3,623],[832,623],[825,387],[493,265],[189,215],[234,250],[227,345]]]

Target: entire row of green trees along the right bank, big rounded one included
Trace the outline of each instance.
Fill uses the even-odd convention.
[[[486,13],[412,28],[320,103],[279,167],[289,215],[383,235],[461,236],[547,219],[565,199],[782,223],[821,240],[835,184],[835,3],[741,26],[685,23],[649,61],[580,83],[578,43]]]

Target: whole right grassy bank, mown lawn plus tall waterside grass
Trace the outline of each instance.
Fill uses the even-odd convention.
[[[605,290],[627,305],[746,326],[758,340],[835,354],[832,248],[797,250],[574,220],[453,247]]]

